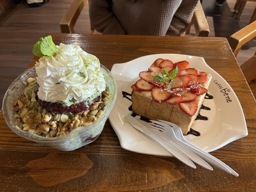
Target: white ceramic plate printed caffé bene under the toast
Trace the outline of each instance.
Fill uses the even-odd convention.
[[[169,59],[173,63],[187,60],[190,68],[194,67],[212,75],[208,93],[214,99],[204,100],[204,105],[211,110],[201,110],[200,112],[209,120],[196,120],[196,124],[192,128],[200,132],[201,136],[186,135],[185,138],[188,141],[207,152],[211,152],[248,134],[243,110],[235,92],[218,73],[206,64],[204,58],[181,54],[153,54],[126,63],[115,64],[111,69],[117,82],[117,99],[110,112],[109,121],[122,148],[149,155],[171,156],[129,124],[126,116],[131,114],[128,107],[132,103],[122,95],[122,91],[132,92],[131,85],[139,79],[140,71],[147,70],[157,58]],[[224,93],[227,94],[224,95]]]

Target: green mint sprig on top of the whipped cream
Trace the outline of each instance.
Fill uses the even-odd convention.
[[[33,47],[33,54],[38,57],[43,56],[55,56],[57,53],[57,47],[52,41],[52,36],[47,36],[45,38],[40,38]]]

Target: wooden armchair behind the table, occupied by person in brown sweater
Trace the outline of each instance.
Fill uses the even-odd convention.
[[[65,13],[60,21],[60,29],[62,33],[75,33],[74,25],[76,24],[76,20],[82,12],[84,4],[86,2],[87,0],[73,1],[73,3],[68,8],[68,11]],[[198,3],[198,6],[196,7],[196,10],[194,12],[192,23],[194,24],[196,29],[196,36],[208,36],[210,30],[200,2]],[[102,33],[96,31],[91,24],[91,34]]]

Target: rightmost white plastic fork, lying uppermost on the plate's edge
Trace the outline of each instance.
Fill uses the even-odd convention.
[[[151,126],[151,125],[148,125],[148,126],[162,131],[169,138],[172,138],[172,139],[176,138],[175,141],[179,143],[181,146],[188,148],[190,151],[202,157],[204,160],[208,161],[215,167],[218,167],[219,169],[225,172],[235,175],[236,177],[238,176],[238,174],[233,169],[231,169],[228,165],[226,165],[216,157],[210,155],[209,153],[205,152],[204,150],[196,147],[194,144],[190,143],[189,141],[187,141],[184,138],[181,132],[181,129],[178,125],[168,121],[164,121],[164,120],[151,121],[151,122],[155,123],[153,124],[154,126]]]

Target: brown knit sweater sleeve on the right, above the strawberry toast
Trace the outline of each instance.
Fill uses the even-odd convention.
[[[199,0],[183,0],[180,7],[175,12],[169,29],[166,33],[168,36],[180,36],[191,22],[194,11]]]

